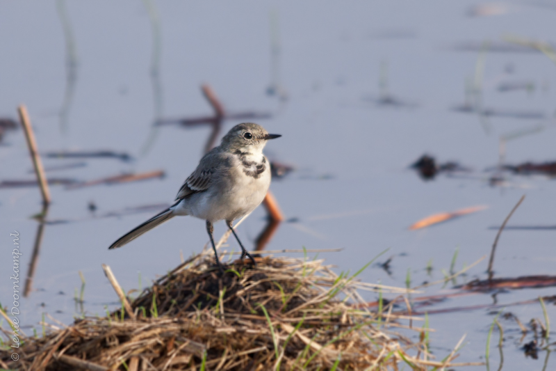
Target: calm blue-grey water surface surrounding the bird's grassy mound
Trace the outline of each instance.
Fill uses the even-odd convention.
[[[556,65],[540,53],[481,54],[455,47],[459,42],[479,46],[484,40],[500,42],[505,34],[550,40],[552,8],[507,3],[509,13],[469,17],[469,8],[476,5],[473,1],[457,5],[442,1],[152,4],[149,14],[144,3],[133,1],[58,3],[66,14],[60,19],[63,12],[56,3],[3,3],[1,116],[17,117],[15,108],[24,102],[42,152],[108,149],[136,157],[131,162],[87,159],[87,166],[52,171],[49,177],[95,180],[157,169],[166,174],[163,180],[71,191],[51,187],[53,203],[47,219],[83,220],[45,226],[34,290],[21,301],[24,331],[31,333],[31,326],[40,331],[43,312],[65,323],[81,314],[74,303],[74,292],[78,290],[79,295],[81,287],[78,271],[86,281],[83,309],[101,314],[104,306],[117,306],[102,263],[111,266],[125,290],[131,290],[138,288],[140,280],[145,287],[179,264],[180,251],[188,256],[206,244],[204,221],[174,219],[129,246],[108,251],[117,237],[155,211],[120,218],[93,217],[88,211],[90,202],[97,205],[97,216],[172,202],[197,165],[210,129],[160,127],[149,144],[152,123],[158,115],[211,114],[199,90],[203,83],[211,84],[229,111],[274,113],[259,123],[283,137],[269,143],[265,152],[271,159],[296,167],[284,180],[275,180],[271,189],[286,217],[298,222],[282,223],[268,249],[341,247],[341,253],[319,256],[336,265],[337,271],[354,272],[389,248],[378,261],[393,257],[391,275],[372,265],[361,279],[404,286],[409,269],[412,285],[418,285],[443,278],[441,269],[448,271],[456,248],[456,270],[488,254],[496,235],[490,227],[500,226],[523,194],[525,201],[509,225],[555,225],[553,180],[509,177],[512,187],[491,187],[492,173],[483,170],[498,163],[500,136],[539,125],[540,132],[507,142],[505,160],[509,164],[554,160],[556,130],[551,118]],[[64,33],[63,24],[70,24],[69,31],[66,28]],[[156,30],[160,43],[153,43]],[[69,49],[67,40],[74,42]],[[270,40],[274,40],[274,54]],[[157,48],[159,60],[153,55]],[[486,108],[535,111],[545,119],[493,116],[482,123],[475,114],[452,111],[464,102],[466,79],[475,78],[477,61],[484,61],[482,103]],[[76,66],[70,70],[74,79],[68,79],[67,65]],[[158,72],[154,81],[153,66]],[[500,82],[523,80],[532,81],[534,91],[498,91]],[[273,84],[279,84],[287,100],[266,93]],[[409,104],[377,105],[369,97],[380,97],[381,90]],[[223,131],[236,123],[227,121]],[[148,152],[142,154],[146,147]],[[473,171],[463,177],[440,175],[423,182],[407,166],[425,152],[441,162],[457,160]],[[0,159],[0,180],[33,179],[21,130],[6,135]],[[43,161],[48,167],[83,160]],[[407,229],[430,214],[473,205],[489,208],[425,230]],[[2,246],[6,246],[0,268],[4,306],[10,306],[13,294],[8,283],[13,265],[9,234],[19,232],[24,252],[21,274],[26,276],[38,228],[30,216],[39,211],[38,189],[0,189]],[[259,208],[239,228],[247,246],[252,246],[265,225],[264,215]],[[215,235],[224,230],[219,223]],[[554,237],[555,230],[503,232],[494,265],[496,276],[554,274]],[[233,241],[230,248],[238,250]],[[432,276],[425,270],[430,260]],[[487,260],[457,282],[486,278]],[[443,290],[436,285],[423,294]],[[553,289],[514,290],[496,299],[509,304],[550,294]],[[368,299],[376,297],[369,294]],[[477,294],[448,299],[430,309],[492,302],[489,294]],[[547,306],[548,315],[556,318],[554,306]],[[430,326],[436,329],[431,335],[432,350],[443,358],[467,333],[458,361],[480,361],[498,310],[430,315]],[[508,306],[508,310],[522,322],[543,317],[538,303]],[[546,352],[539,352],[539,360],[534,361],[519,350],[532,340],[531,333],[518,342],[515,322],[501,323],[507,335],[503,369],[540,370]],[[498,367],[497,333],[491,342],[491,366]],[[549,359],[546,370],[553,363]]]

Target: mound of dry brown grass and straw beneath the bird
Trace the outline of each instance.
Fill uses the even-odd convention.
[[[414,343],[391,332],[390,326],[402,326],[396,323],[401,317],[388,306],[370,312],[357,292],[406,289],[338,276],[321,260],[258,258],[255,269],[242,261],[225,268],[220,275],[213,258],[197,255],[144,290],[131,303],[132,315],[122,303],[106,317],[77,319],[42,338],[25,338],[17,365],[9,354],[0,363],[58,371],[398,370],[400,362],[427,370],[427,365],[450,365],[453,353],[430,361],[423,333]]]

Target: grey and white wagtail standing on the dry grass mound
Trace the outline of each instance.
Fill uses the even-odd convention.
[[[213,239],[213,223],[220,220],[226,221],[238,240],[241,258],[247,255],[254,265],[253,257],[241,244],[231,223],[252,212],[265,198],[270,186],[270,164],[263,148],[266,141],[280,136],[268,134],[263,127],[252,123],[232,127],[222,143],[199,161],[179,189],[174,205],[127,232],[109,248],[124,246],[174,216],[191,215],[206,220],[206,231],[220,271],[222,265]]]

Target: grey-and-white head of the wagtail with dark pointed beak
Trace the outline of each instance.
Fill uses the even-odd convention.
[[[228,134],[222,138],[222,146],[241,152],[259,152],[263,150],[266,141],[280,136],[280,134],[268,134],[261,125],[243,123],[230,129]]]

